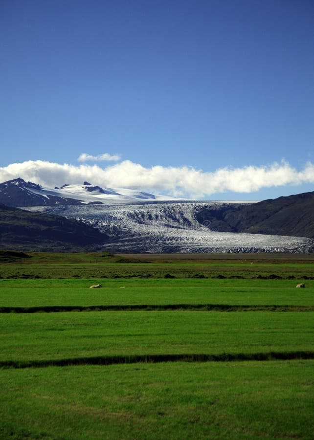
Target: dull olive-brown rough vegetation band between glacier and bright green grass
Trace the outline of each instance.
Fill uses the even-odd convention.
[[[129,256],[110,253],[36,253],[17,262],[1,260],[2,279],[19,278],[218,278],[314,279],[314,254],[170,254]],[[142,257],[142,258],[141,258]],[[122,261],[125,259],[123,257]],[[147,264],[151,263],[151,264]],[[293,278],[292,278],[293,277]]]

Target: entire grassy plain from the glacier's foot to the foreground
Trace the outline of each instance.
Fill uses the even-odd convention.
[[[0,251],[0,347],[1,439],[312,439],[314,256]]]

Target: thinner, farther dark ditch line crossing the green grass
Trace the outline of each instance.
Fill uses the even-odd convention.
[[[314,306],[300,305],[228,305],[228,304],[132,304],[106,306],[34,306],[34,307],[0,307],[0,313],[58,313],[89,311],[158,311],[158,310],[198,310],[198,311],[314,311]]]

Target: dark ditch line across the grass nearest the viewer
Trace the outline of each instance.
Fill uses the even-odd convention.
[[[143,354],[128,356],[93,356],[68,359],[47,359],[30,361],[0,361],[0,368],[43,368],[67,367],[71,365],[113,365],[161,362],[233,362],[233,361],[271,361],[271,360],[314,359],[313,351],[262,352],[262,353],[222,353],[222,354]]]

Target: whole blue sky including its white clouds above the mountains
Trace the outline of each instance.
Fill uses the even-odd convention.
[[[2,0],[0,47],[1,181],[314,190],[313,1]]]

